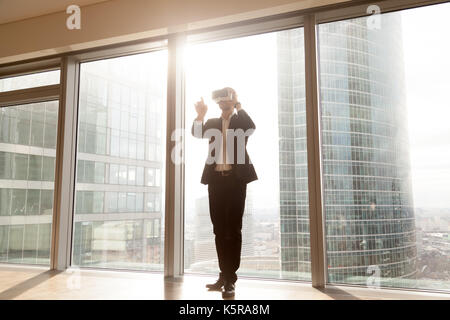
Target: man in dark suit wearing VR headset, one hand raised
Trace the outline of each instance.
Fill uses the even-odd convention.
[[[248,137],[255,130],[255,124],[242,109],[236,92],[232,88],[223,90],[229,90],[231,99],[218,102],[222,110],[220,118],[204,123],[208,107],[203,98],[195,104],[197,118],[192,124],[192,134],[197,138],[208,138],[210,146],[201,183],[208,185],[209,212],[220,275],[214,284],[206,287],[210,290],[223,289],[222,296],[226,298],[235,295],[247,183],[258,177],[247,153]],[[211,148],[214,145],[216,147]]]

